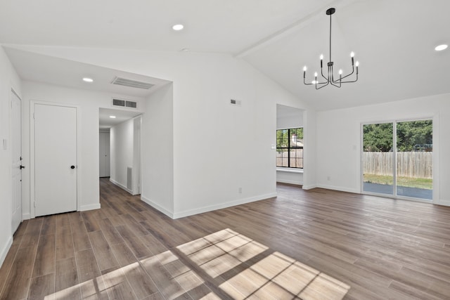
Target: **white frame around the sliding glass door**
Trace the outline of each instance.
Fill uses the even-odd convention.
[[[397,145],[396,143],[393,144],[394,151],[392,151],[392,157],[394,159],[393,162],[393,176],[394,176],[394,194],[393,195],[385,195],[385,194],[379,194],[379,193],[371,193],[371,192],[365,192],[364,191],[364,164],[363,164],[363,151],[364,151],[364,133],[363,133],[363,126],[366,124],[375,124],[375,123],[393,123],[393,135],[397,136],[397,123],[398,122],[410,122],[410,121],[420,121],[425,119],[431,119],[432,120],[432,129],[433,129],[433,162],[432,162],[432,173],[433,173],[433,191],[432,191],[432,200],[423,200],[420,198],[413,198],[413,197],[405,197],[405,196],[399,196],[397,195]],[[375,119],[370,120],[366,122],[361,122],[359,127],[359,134],[360,134],[360,146],[359,146],[359,186],[360,186],[360,193],[363,195],[374,195],[378,197],[386,197],[386,198],[392,198],[392,199],[399,199],[399,200],[409,200],[409,201],[416,201],[416,202],[425,202],[425,203],[432,203],[432,204],[440,204],[440,197],[439,197],[439,113],[435,115],[411,115],[409,117],[403,117],[403,118],[394,118],[394,119]],[[396,139],[394,141],[397,141]]]

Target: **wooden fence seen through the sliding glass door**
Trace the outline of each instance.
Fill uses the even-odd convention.
[[[397,176],[432,178],[432,152],[397,152]],[[392,175],[392,152],[364,152],[364,174]]]

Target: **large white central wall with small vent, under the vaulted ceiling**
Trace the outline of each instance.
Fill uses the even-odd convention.
[[[271,149],[276,103],[309,109],[254,67],[227,54],[20,48],[174,82],[174,217],[276,195],[275,150]],[[241,100],[242,106],[231,106],[230,99]],[[314,115],[309,121],[314,124]],[[310,138],[312,167],[315,141]],[[309,178],[311,183],[314,180]]]

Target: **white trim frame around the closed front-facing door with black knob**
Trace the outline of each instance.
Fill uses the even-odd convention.
[[[36,210],[34,207],[34,201],[35,201],[35,182],[34,182],[34,171],[35,171],[35,160],[34,160],[34,105],[41,104],[41,105],[53,105],[53,106],[61,106],[61,107],[75,107],[77,109],[77,211],[80,211],[81,209],[81,201],[80,196],[81,195],[81,171],[82,171],[82,159],[81,159],[81,145],[80,145],[80,132],[81,132],[81,126],[80,126],[80,115],[81,115],[81,108],[79,105],[70,105],[66,103],[58,103],[58,102],[49,102],[49,101],[42,101],[42,100],[30,100],[30,217],[31,219],[34,219],[36,217]]]

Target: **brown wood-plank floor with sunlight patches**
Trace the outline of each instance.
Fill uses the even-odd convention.
[[[101,209],[20,225],[0,299],[450,299],[450,207],[277,189],[172,220],[101,179]]]

